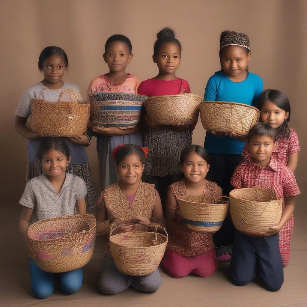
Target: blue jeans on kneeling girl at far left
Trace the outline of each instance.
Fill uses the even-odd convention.
[[[56,275],[59,276],[61,289],[66,293],[76,293],[82,286],[83,268],[54,274],[41,270],[32,258],[29,258],[29,267],[31,288],[38,298],[46,298],[52,294]]]

